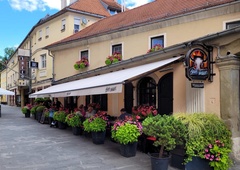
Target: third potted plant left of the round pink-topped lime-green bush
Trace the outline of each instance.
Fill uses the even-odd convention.
[[[65,122],[67,115],[68,115],[68,112],[64,111],[64,110],[59,110],[59,111],[54,112],[53,120],[57,121],[59,129],[67,128],[67,124]]]

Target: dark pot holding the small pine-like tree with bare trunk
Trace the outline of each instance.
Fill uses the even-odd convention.
[[[159,153],[150,154],[152,170],[168,170],[170,157],[158,157]]]

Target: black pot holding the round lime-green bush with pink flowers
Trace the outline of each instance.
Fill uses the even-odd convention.
[[[137,142],[129,144],[120,144],[120,154],[124,157],[133,157],[137,153]]]

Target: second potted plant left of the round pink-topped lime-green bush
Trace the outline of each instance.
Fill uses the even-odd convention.
[[[82,115],[78,111],[68,114],[65,122],[68,124],[68,126],[72,127],[72,132],[74,135],[82,134]]]

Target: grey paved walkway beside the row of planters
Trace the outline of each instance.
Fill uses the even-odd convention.
[[[95,145],[91,138],[74,136],[71,129],[25,118],[19,107],[1,105],[1,112],[0,170],[151,170],[149,156],[140,151],[125,158],[110,140]],[[240,165],[231,170],[240,170]]]

